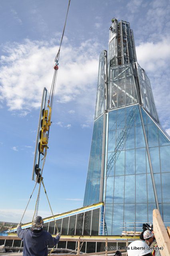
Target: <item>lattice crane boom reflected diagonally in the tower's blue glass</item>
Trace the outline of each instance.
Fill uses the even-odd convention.
[[[134,125],[134,120],[135,120],[135,115],[138,111],[138,107],[134,106],[132,110],[130,111],[127,119],[126,119],[126,124],[116,139],[116,147],[114,149],[114,152],[109,156],[108,161],[107,161],[107,167],[106,167],[106,179],[108,178],[110,171],[112,170],[114,164],[116,163],[120,152],[123,150],[125,146],[125,142],[130,134],[130,130],[132,129],[132,126]],[[137,116],[136,116],[137,117]]]

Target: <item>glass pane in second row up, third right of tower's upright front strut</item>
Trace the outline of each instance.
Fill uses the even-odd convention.
[[[125,176],[124,202],[135,203],[135,175]]]

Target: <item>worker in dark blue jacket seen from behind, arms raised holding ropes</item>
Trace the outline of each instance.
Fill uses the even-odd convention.
[[[24,242],[23,256],[47,256],[47,246],[53,247],[58,244],[60,240],[60,233],[56,237],[44,231],[43,219],[41,216],[36,216],[33,220],[30,229],[22,229],[21,223],[17,226],[17,234]]]

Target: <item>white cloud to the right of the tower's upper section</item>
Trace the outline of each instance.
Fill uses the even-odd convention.
[[[164,129],[170,127],[170,37],[162,41],[141,43],[136,47],[138,63],[150,79],[154,101]]]

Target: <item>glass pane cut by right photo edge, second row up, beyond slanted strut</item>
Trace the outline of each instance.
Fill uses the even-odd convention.
[[[170,172],[162,173],[161,176],[163,203],[170,203]]]

